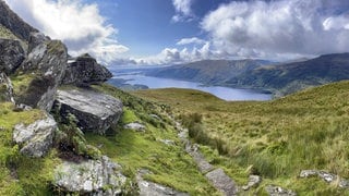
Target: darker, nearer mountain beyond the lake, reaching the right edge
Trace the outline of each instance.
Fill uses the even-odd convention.
[[[349,79],[349,53],[325,54],[301,62],[257,68],[230,77],[226,83],[285,95],[342,79]]]

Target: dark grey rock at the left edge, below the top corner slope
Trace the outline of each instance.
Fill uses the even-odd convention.
[[[25,59],[25,52],[19,40],[0,39],[0,71],[11,74]]]

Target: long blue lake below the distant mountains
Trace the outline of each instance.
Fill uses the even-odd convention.
[[[202,91],[206,91],[215,95],[216,97],[225,100],[270,100],[270,94],[263,94],[256,90],[251,89],[239,89],[239,88],[229,88],[221,86],[203,86],[200,83],[186,82],[186,81],[178,81],[171,78],[160,78],[160,77],[151,77],[145,76],[142,72],[131,71],[122,71],[116,72],[113,78],[122,78],[127,79],[125,84],[131,85],[146,85],[149,88],[192,88]],[[116,74],[118,73],[118,74]]]

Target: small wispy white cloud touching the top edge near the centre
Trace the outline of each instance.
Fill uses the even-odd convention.
[[[191,5],[193,0],[172,0],[176,15],[172,16],[173,22],[191,21],[194,17]]]

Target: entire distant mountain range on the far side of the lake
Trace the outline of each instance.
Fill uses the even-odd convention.
[[[349,79],[349,53],[324,54],[287,63],[204,60],[153,70],[147,75],[205,85],[263,89],[282,96],[311,86]]]

